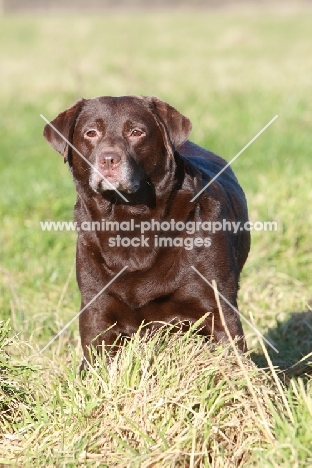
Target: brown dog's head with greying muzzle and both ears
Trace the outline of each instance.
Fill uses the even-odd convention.
[[[157,183],[191,122],[154,97],[81,99],[44,128],[44,136],[69,163],[74,178],[99,194],[135,193]]]

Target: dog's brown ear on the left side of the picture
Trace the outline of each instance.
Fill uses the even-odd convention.
[[[64,157],[64,162],[68,160],[69,145],[71,141],[76,118],[81,111],[85,99],[80,99],[72,107],[61,112],[54,120],[48,123],[43,130],[45,139],[50,145]]]

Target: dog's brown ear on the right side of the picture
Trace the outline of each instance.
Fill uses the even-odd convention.
[[[174,107],[156,97],[146,97],[150,109],[156,117],[165,143],[176,150],[184,143],[192,130],[191,121],[180,114]],[[168,142],[169,140],[169,142]]]

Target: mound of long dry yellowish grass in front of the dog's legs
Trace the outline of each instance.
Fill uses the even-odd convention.
[[[26,426],[2,442],[8,458],[241,467],[253,449],[272,444],[268,401],[279,397],[270,377],[248,357],[237,362],[229,345],[169,332],[136,335],[82,381],[57,362],[33,376]],[[15,403],[12,419],[14,412]]]

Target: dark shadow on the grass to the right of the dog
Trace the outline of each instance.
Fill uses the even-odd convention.
[[[281,370],[294,366],[298,361],[312,352],[312,311],[293,312],[290,318],[284,322],[277,322],[276,327],[268,330],[266,338],[279,350],[276,353],[267,347],[268,354],[274,366]],[[252,360],[258,367],[267,367],[268,363],[261,352],[251,355]],[[301,365],[296,369],[294,375],[302,375],[310,369],[312,373],[312,355],[307,359],[311,367]],[[304,361],[305,364],[307,362]],[[301,369],[302,368],[302,369]]]

